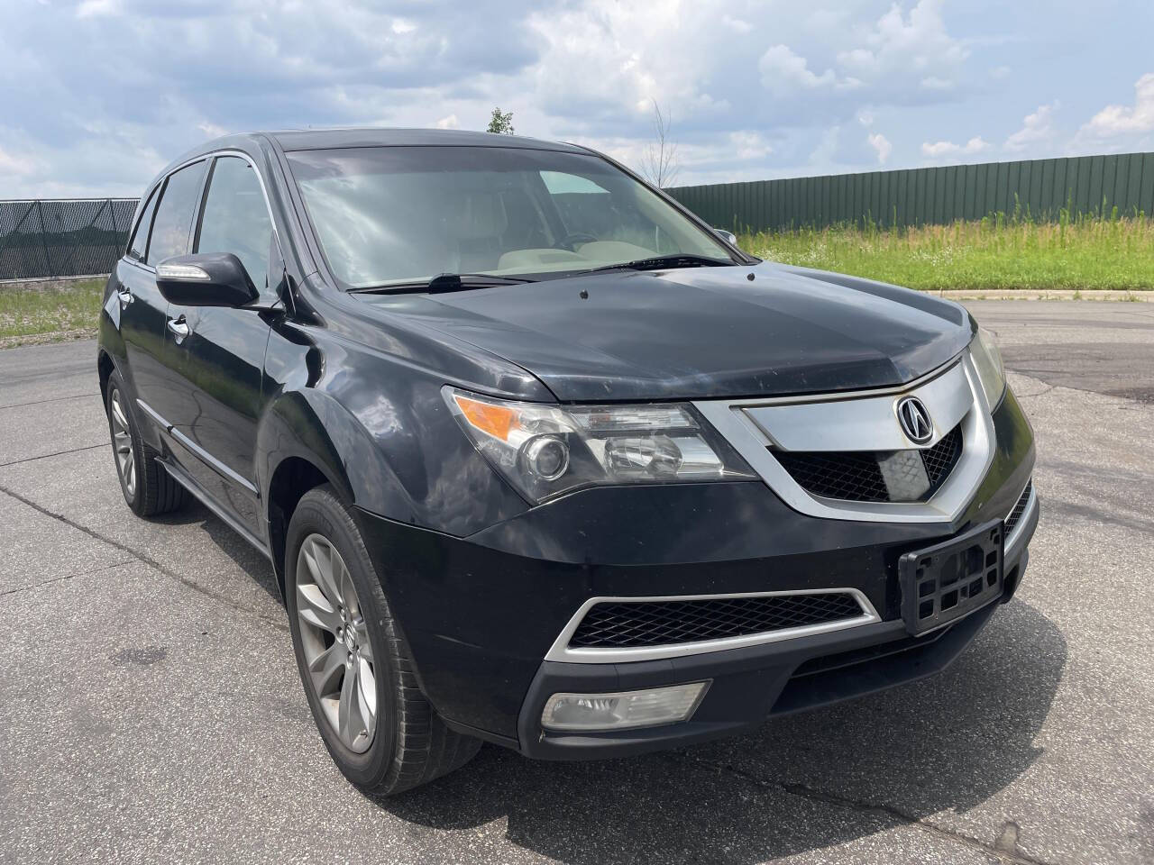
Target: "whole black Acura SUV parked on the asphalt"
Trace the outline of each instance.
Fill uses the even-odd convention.
[[[98,368],[128,505],[190,494],[269,557],[374,792],[941,670],[1037,522],[965,309],[751,258],[570,144],[205,144],[141,198]]]

